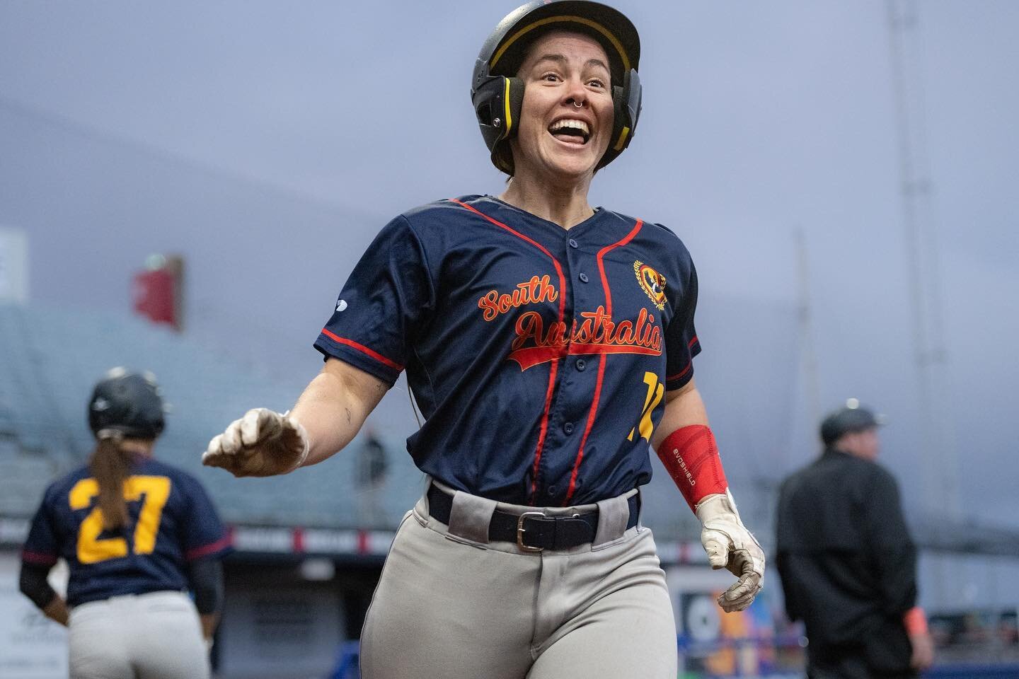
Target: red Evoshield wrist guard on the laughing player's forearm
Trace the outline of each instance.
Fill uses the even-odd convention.
[[[658,458],[691,511],[705,497],[729,488],[714,435],[704,425],[689,425],[669,434],[658,447]]]

